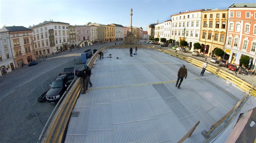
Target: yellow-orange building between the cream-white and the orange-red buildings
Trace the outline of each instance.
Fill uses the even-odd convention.
[[[201,52],[213,57],[216,48],[224,50],[228,27],[228,10],[202,11],[201,25],[199,41],[202,45]]]

